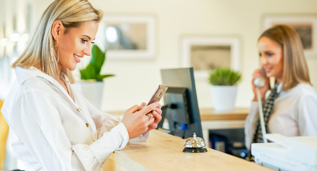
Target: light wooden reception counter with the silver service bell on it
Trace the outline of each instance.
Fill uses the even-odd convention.
[[[101,171],[112,170],[235,170],[272,171],[238,157],[208,148],[206,153],[184,153],[184,140],[159,130],[151,130],[146,143],[129,142],[114,151]]]

